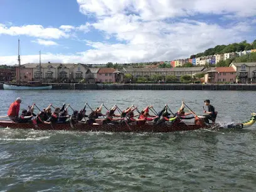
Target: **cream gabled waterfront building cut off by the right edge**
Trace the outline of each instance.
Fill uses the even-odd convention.
[[[231,63],[236,71],[238,83],[256,83],[256,62],[250,63]]]

